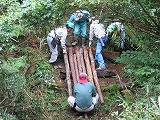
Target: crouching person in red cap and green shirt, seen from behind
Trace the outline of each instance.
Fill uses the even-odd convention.
[[[90,112],[98,103],[99,95],[91,82],[88,82],[87,74],[81,73],[79,81],[73,86],[73,96],[68,97],[71,108],[78,112]]]

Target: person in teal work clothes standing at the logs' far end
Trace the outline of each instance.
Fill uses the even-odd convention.
[[[86,10],[77,10],[73,13],[70,19],[67,22],[73,22],[74,26],[74,42],[72,45],[76,45],[78,43],[78,36],[81,32],[82,37],[82,46],[84,46],[85,38],[87,36],[87,22],[89,22],[90,13]]]

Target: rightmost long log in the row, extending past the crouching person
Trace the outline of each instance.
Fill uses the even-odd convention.
[[[91,61],[91,68],[92,68],[92,72],[93,72],[94,83],[97,88],[97,92],[99,94],[100,101],[101,101],[101,103],[104,103],[103,95],[102,95],[101,88],[100,88],[100,85],[98,82],[97,72],[95,69],[94,57],[93,57],[93,53],[92,53],[91,48],[89,48],[89,57],[90,57],[90,61]]]

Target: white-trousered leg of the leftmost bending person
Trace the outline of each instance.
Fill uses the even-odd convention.
[[[49,59],[49,63],[54,63],[57,60],[58,57],[58,50],[57,46],[55,48],[52,47],[51,42],[52,42],[52,37],[47,37],[47,43],[51,52],[51,57]]]

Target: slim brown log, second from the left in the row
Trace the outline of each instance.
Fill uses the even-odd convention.
[[[68,50],[69,50],[68,51],[68,53],[69,53],[69,63],[70,63],[70,69],[71,69],[71,73],[72,73],[72,79],[73,79],[73,83],[76,84],[77,83],[77,79],[76,79],[76,73],[75,73],[73,48],[69,47]]]

